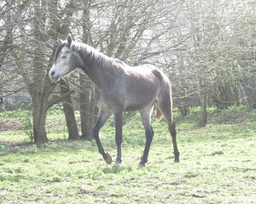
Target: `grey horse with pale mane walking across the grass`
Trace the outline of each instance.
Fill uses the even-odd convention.
[[[126,65],[117,58],[111,58],[91,46],[58,38],[59,46],[55,52],[55,63],[48,75],[52,82],[76,68],[82,69],[94,84],[94,98],[99,107],[98,118],[92,129],[98,152],[107,164],[112,158],[100,141],[99,132],[106,120],[113,114],[115,118],[115,142],[117,158],[114,166],[122,163],[122,115],[123,112],[139,111],[145,129],[145,148],[139,167],[145,167],[154,131],[151,124],[152,110],[156,118],[163,115],[168,124],[174,150],[174,162],[180,163],[177,148],[176,129],[172,115],[171,84],[167,75],[153,65],[137,67]]]

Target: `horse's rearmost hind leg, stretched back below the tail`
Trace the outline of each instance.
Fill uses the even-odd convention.
[[[166,94],[163,99],[157,102],[158,107],[160,108],[162,114],[165,117],[165,120],[168,124],[168,129],[171,134],[172,140],[173,140],[173,150],[174,150],[174,162],[180,163],[180,152],[177,149],[177,141],[176,141],[176,129],[175,124],[173,122],[173,116],[172,116],[172,110],[171,110],[171,95]]]

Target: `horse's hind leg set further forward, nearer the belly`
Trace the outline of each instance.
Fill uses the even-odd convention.
[[[154,136],[154,131],[152,129],[152,125],[150,122],[151,112],[152,108],[141,112],[141,121],[145,129],[146,143],[143,156],[141,157],[141,162],[139,163],[139,167],[145,167],[145,163],[147,163],[147,156],[148,153],[150,152],[150,145],[152,143],[152,139]]]

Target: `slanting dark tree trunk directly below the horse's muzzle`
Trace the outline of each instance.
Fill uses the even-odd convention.
[[[63,80],[61,80],[60,88],[62,96],[70,92],[69,84],[66,84]],[[74,109],[70,105],[72,103],[70,95],[67,95],[63,101],[63,111],[68,127],[68,139],[79,139],[79,129],[77,128]]]

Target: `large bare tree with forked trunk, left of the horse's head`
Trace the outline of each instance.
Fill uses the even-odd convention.
[[[24,10],[13,16],[18,27],[13,36],[16,40],[12,43],[15,49],[9,54],[16,64],[16,73],[22,76],[31,95],[35,142],[44,143],[48,141],[45,129],[48,108],[70,95],[70,92],[66,92],[60,97],[50,97],[56,84],[49,81],[48,69],[53,63],[58,33],[68,31],[69,25],[59,22],[62,19],[68,22],[73,1],[60,11],[57,0],[33,1],[30,4],[24,1],[21,4],[25,2]],[[14,5],[19,4],[14,1]]]

